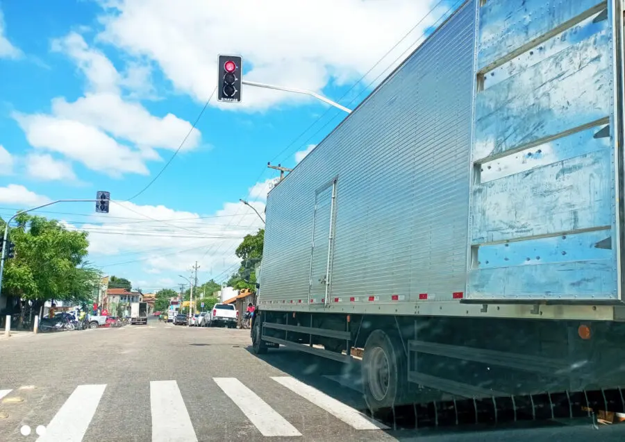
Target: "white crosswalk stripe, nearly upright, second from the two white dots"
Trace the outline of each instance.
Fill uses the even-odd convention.
[[[152,442],[197,442],[176,381],[150,382]]]

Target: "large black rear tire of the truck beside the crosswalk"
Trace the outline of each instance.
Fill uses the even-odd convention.
[[[372,411],[402,405],[408,392],[408,369],[397,332],[375,330],[363,355],[365,402]]]

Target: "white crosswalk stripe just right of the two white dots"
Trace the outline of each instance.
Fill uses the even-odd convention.
[[[60,407],[46,428],[45,434],[38,442],[81,442],[93,415],[98,407],[100,398],[106,389],[106,384],[78,385],[69,398]]]

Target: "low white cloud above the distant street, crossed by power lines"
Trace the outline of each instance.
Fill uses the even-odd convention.
[[[265,210],[263,203],[251,204],[260,213]],[[106,269],[106,263],[126,261],[117,257],[120,253],[133,253],[128,261],[142,260],[144,272],[163,278],[168,271],[186,274],[195,261],[205,271],[213,269],[213,274],[231,266],[239,261],[234,249],[243,237],[263,227],[258,215],[242,203],[225,203],[222,210],[201,217],[163,205],[124,202],[111,205],[110,215],[130,219],[108,222],[105,216],[94,215],[93,222],[80,226],[90,232],[90,254],[99,256]]]

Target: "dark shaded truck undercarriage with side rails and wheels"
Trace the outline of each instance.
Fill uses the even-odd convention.
[[[547,393],[625,412],[625,323],[265,310],[251,334],[257,353],[282,345],[347,364],[362,359],[372,410],[462,399],[502,405]]]

